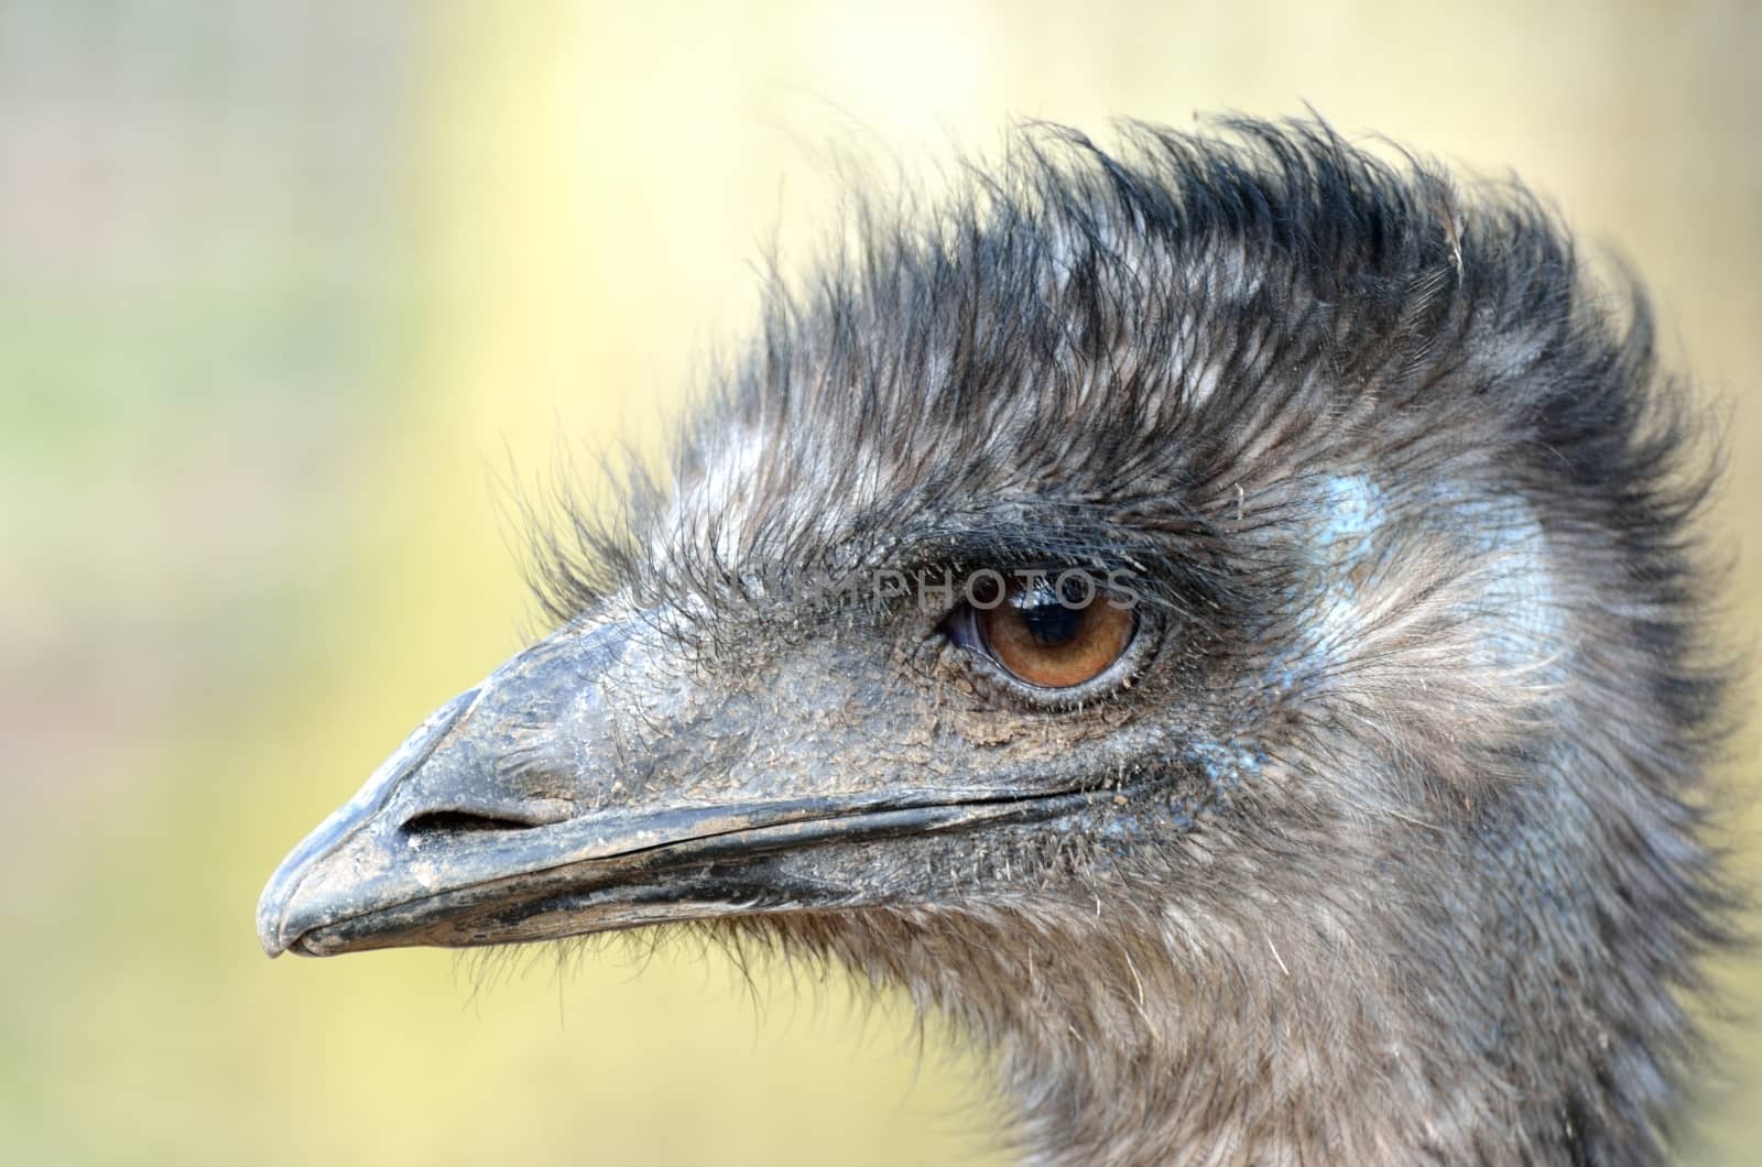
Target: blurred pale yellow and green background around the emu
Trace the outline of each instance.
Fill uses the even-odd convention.
[[[996,1162],[974,1067],[835,978],[263,959],[282,853],[532,631],[504,481],[654,441],[828,145],[1313,102],[1646,275],[1751,645],[1758,58],[1737,2],[0,0],[0,1162]],[[1762,1146],[1727,1029],[1690,1162]]]

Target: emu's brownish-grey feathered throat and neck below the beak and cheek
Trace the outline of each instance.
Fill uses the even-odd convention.
[[[1658,1163],[1693,1056],[1670,904],[1695,855],[1670,853],[1674,802],[1595,807],[1579,781],[1156,908],[858,913],[807,940],[997,1051],[1027,1163]]]

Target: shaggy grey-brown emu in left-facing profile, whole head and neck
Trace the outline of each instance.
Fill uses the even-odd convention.
[[[541,527],[557,631],[263,947],[839,961],[996,1056],[1034,1163],[1662,1162],[1730,670],[1644,294],[1318,122],[1011,143],[858,201],[670,474]]]

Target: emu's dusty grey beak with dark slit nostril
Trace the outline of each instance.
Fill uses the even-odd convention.
[[[1087,799],[872,774],[856,784],[855,770],[876,767],[807,747],[812,735],[779,725],[775,693],[770,705],[707,702],[650,652],[620,624],[560,633],[440,707],[271,876],[257,904],[264,952],[467,947],[877,903],[885,881],[853,878],[869,867],[828,851],[851,859],[851,846]],[[828,703],[849,709],[853,695],[789,700],[823,726]],[[759,730],[775,737],[763,751]]]

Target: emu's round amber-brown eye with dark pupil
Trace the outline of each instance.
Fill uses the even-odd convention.
[[[976,612],[992,658],[1045,689],[1099,677],[1131,643],[1136,621],[1085,573],[1011,585],[1001,603]]]

